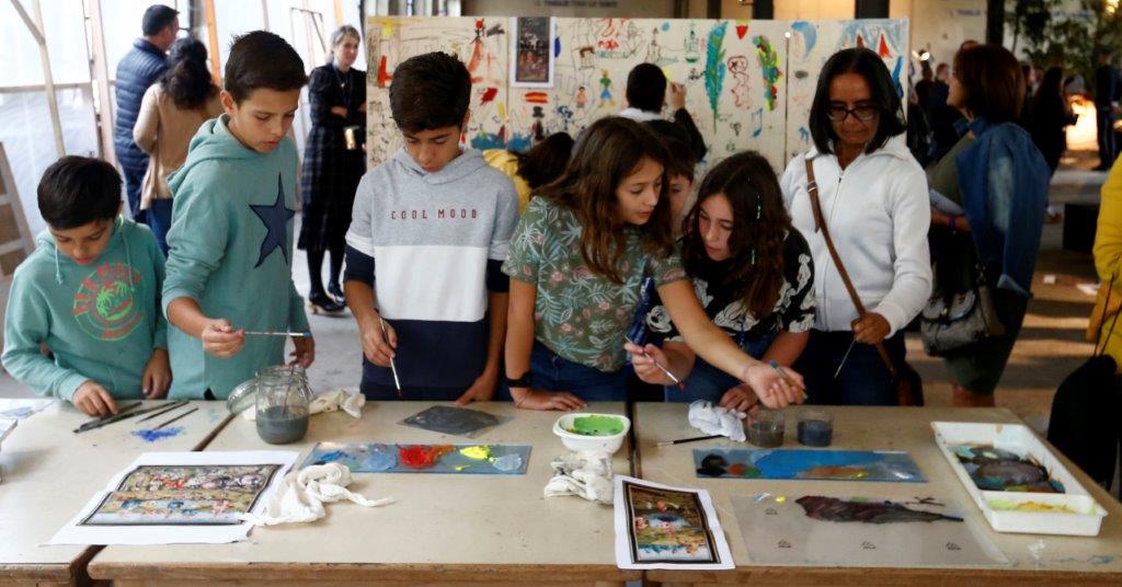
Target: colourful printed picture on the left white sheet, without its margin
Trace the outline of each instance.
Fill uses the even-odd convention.
[[[81,525],[240,524],[278,465],[140,466]]]

